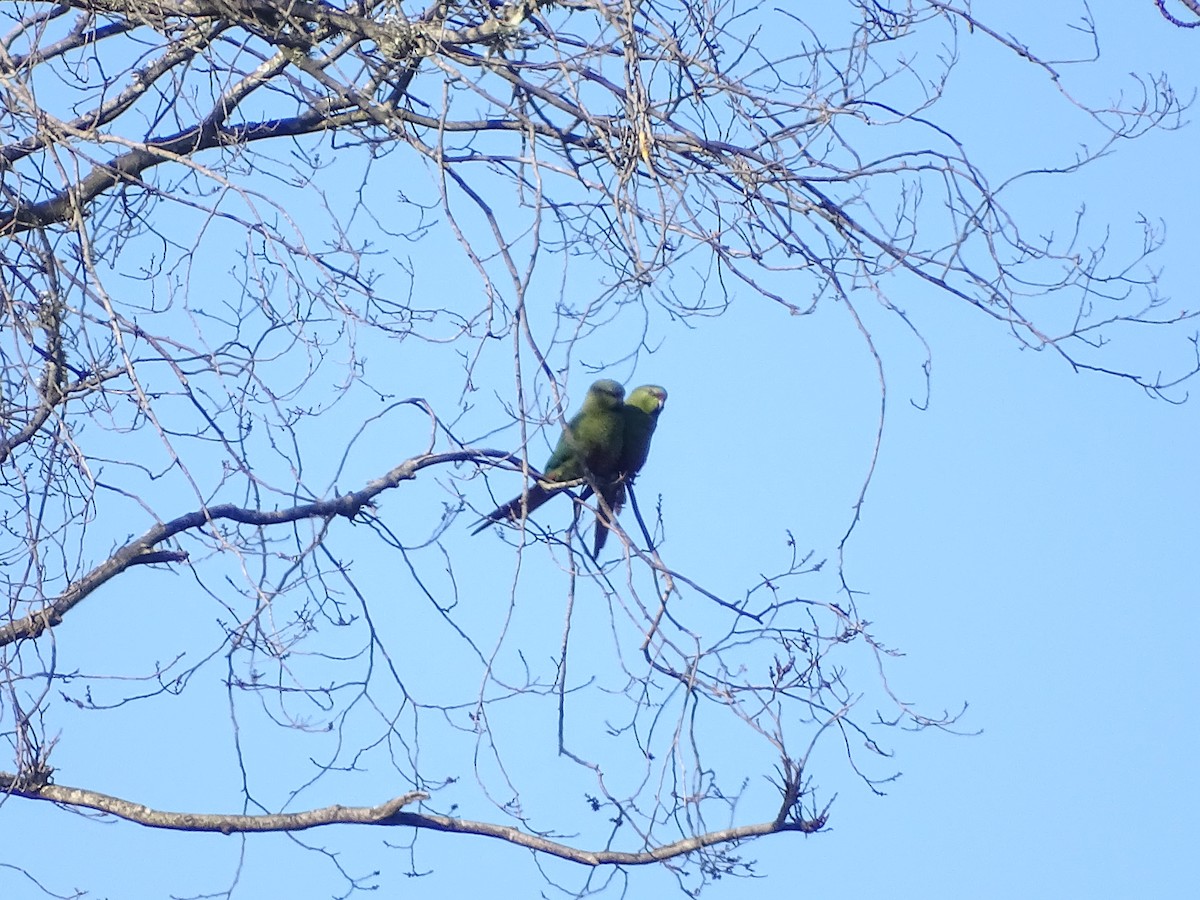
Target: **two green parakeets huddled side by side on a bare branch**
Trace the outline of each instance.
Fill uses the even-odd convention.
[[[608,538],[605,518],[620,511],[625,485],[646,464],[650,438],[666,402],[666,390],[656,384],[635,388],[628,398],[625,389],[611,378],[593,384],[583,398],[583,407],[571,416],[546,461],[542,476],[528,491],[492,510],[472,534],[479,534],[494,522],[518,522],[556,493],[572,486],[571,482],[589,479],[582,498],[590,497],[595,485],[604,500],[592,551],[599,556]]]

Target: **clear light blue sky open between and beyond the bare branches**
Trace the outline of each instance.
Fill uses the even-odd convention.
[[[977,13],[986,18],[992,6],[997,4],[977,5]],[[1014,30],[1034,49],[1044,41],[1051,52],[1063,40],[1061,23],[1051,30],[1039,22],[1050,14],[1044,5],[1007,6],[1014,11]],[[1159,70],[1184,96],[1195,88],[1200,34],[1170,28],[1148,2],[1103,0],[1093,12],[1103,58],[1086,68],[1069,67],[1070,90],[1099,102],[1130,86],[1128,72]],[[977,48],[978,58],[972,55]],[[1044,79],[1010,61],[1003,72],[1013,77],[997,77],[1000,56],[986,50],[979,35],[965,40],[962,56],[943,116],[953,116],[949,124],[980,164],[996,167],[994,179],[1032,160],[1070,161],[1084,130]],[[1111,228],[1116,251],[1140,241],[1139,214],[1162,218],[1168,242],[1158,257],[1160,293],[1195,308],[1196,146],[1194,124],[1123,144],[1079,175],[1039,181],[1037,190],[1021,194],[1016,211],[1031,233],[1062,233],[1086,204],[1096,234]],[[460,257],[432,262],[462,268]],[[452,292],[469,277],[419,270],[416,290],[432,289],[432,282]],[[546,289],[552,284],[551,278]],[[872,623],[872,634],[904,653],[889,664],[893,690],[931,714],[970,704],[959,724],[962,736],[883,734],[895,756],[871,761],[870,774],[902,773],[883,786],[886,797],[857,780],[830,743],[817,754],[814,769],[818,796],[836,794],[830,828],[811,838],[784,835],[744,845],[742,856],[757,859],[756,872],[769,880],[725,878],[708,887],[706,896],[1190,895],[1200,838],[1200,774],[1193,758],[1200,738],[1196,402],[1172,406],[1128,383],[1074,373],[1051,353],[1021,349],[990,319],[912,292],[901,288],[892,299],[911,313],[931,347],[930,402],[924,410],[914,406],[925,400],[919,343],[884,331],[888,425],[863,518],[846,551],[846,575],[865,592],[859,611]],[[1136,347],[1120,349],[1146,370],[1158,361],[1164,370],[1186,368],[1187,335],[1194,331],[1193,325],[1151,332]],[[797,318],[761,302],[736,304],[692,330],[654,320],[647,342],[661,347],[643,355],[635,371],[618,366],[606,373],[671,391],[654,456],[638,485],[643,505],[661,496],[661,550],[670,564],[701,583],[736,592],[782,564],[788,530],[800,547],[833,558],[851,521],[878,408],[874,372],[848,318],[830,305]],[[409,348],[404,344],[406,353]],[[439,379],[427,367],[432,353],[412,349],[374,380],[396,397],[424,396],[449,409],[461,384]],[[494,394],[472,396],[461,433],[484,434],[508,421],[497,395],[511,395],[511,374],[500,364],[497,359],[492,371],[508,380]],[[572,402],[590,378],[582,366],[571,372]],[[1192,388],[1194,395],[1200,383]],[[340,414],[361,419],[362,408]],[[737,416],[731,422],[714,415],[714,408],[734,409]],[[338,478],[342,490],[422,450],[426,428],[418,415],[395,415],[374,433],[350,455]],[[504,445],[512,434],[502,432],[486,443]],[[512,484],[512,476],[491,479],[497,493]],[[476,506],[487,505],[481,481],[460,486],[474,492]],[[386,497],[380,517],[415,545],[428,538],[442,503],[452,502],[446,480],[426,479]],[[478,606],[472,613],[478,632],[494,637],[509,612],[516,558],[494,535],[469,542],[464,522],[451,526],[461,534],[446,538],[457,566],[458,602]],[[348,533],[342,522],[335,527],[343,529],[335,552],[353,556],[361,532]],[[439,628],[437,617],[412,599],[406,577],[394,578],[407,563],[372,553],[356,562],[358,577],[373,592],[372,613],[391,649],[404,660],[421,660],[422,671],[413,677],[422,686],[474,677],[431,653],[424,636]],[[449,587],[431,558],[419,565],[432,584]],[[119,653],[131,670],[140,664],[144,671],[172,655],[166,649],[178,643],[172,636],[211,628],[212,605],[190,596],[186,580],[149,571],[125,578],[60,629],[60,667],[97,671]],[[404,587],[392,604],[395,583]],[[540,654],[533,666],[545,671],[560,628],[564,575],[548,554],[530,551],[517,584],[514,608],[521,634]],[[163,596],[158,592],[164,589],[180,594]],[[828,593],[828,580],[815,578],[800,589],[836,599]],[[580,602],[601,601],[581,592]],[[545,634],[522,618],[533,612],[550,619]],[[856,683],[868,692],[859,712],[866,713],[880,703],[874,661],[860,654],[853,665]],[[222,674],[218,666],[199,677],[215,682]],[[60,713],[59,780],[163,809],[241,811],[230,806],[238,803],[240,776],[228,710],[220,688],[210,694],[209,702],[190,708],[187,721],[156,718],[170,715],[172,704],[133,706],[104,716]],[[125,724],[114,728],[116,722]],[[533,718],[527,727],[526,738],[540,748],[530,756],[541,758],[538,754],[552,745],[552,728]],[[589,727],[602,732],[598,722],[578,727],[582,734]],[[253,790],[277,805],[295,769],[280,772],[276,784],[271,734],[247,727],[242,737],[258,742],[247,752]],[[445,752],[445,775],[469,781],[473,750],[430,744],[422,766],[439,768],[428,755]],[[714,756],[724,760],[738,751],[718,746]],[[479,766],[487,769],[482,757]],[[508,758],[522,768],[523,761]],[[407,790],[389,781],[390,769],[379,772],[378,784],[326,779],[326,788],[344,785],[346,793],[302,794],[293,808],[372,804]],[[578,804],[577,793],[556,797],[550,773],[546,784],[526,791],[529,804],[545,811],[556,803]],[[494,772],[485,780],[493,788],[500,781]],[[469,805],[475,797],[464,785],[457,812],[497,818],[490,806]],[[748,808],[763,797],[769,797],[763,786],[751,785]],[[503,803],[505,797],[493,799]],[[454,788],[439,796],[442,808],[456,802]],[[748,812],[740,821],[762,817]],[[581,842],[590,846],[590,839]],[[410,834],[341,827],[296,840],[341,853],[355,874],[382,870],[385,895],[556,896],[540,871],[577,889],[587,877],[577,868],[476,838],[418,836],[415,868],[430,874],[412,880],[403,877],[407,853],[384,846],[406,845]],[[91,896],[149,900],[217,892],[238,877],[234,896],[316,898],[332,895],[340,883],[331,863],[300,852],[292,838],[149,832],[88,821],[49,804],[0,806],[0,844],[12,848],[7,862],[49,875],[47,887],[60,894],[77,886],[95,890]],[[611,872],[596,872],[592,883],[608,877]],[[629,898],[665,896],[674,883],[656,869],[626,877]],[[4,869],[0,894],[37,895]]]

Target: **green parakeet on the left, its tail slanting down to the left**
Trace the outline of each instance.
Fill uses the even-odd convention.
[[[592,475],[601,484],[617,478],[625,434],[622,401],[625,389],[610,378],[602,378],[590,388],[583,406],[566,424],[554,452],[546,461],[546,468],[536,484],[497,506],[479,523],[472,534],[479,534],[493,522],[518,522],[529,512],[563,491],[554,485],[577,481]]]

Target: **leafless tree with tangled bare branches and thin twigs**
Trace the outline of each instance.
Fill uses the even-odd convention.
[[[181,830],[426,828],[587,866],[691,854],[704,881],[746,870],[740,840],[824,828],[809,763],[826,736],[874,788],[892,776],[860,762],[887,755],[878,733],[952,727],[882,674],[895,652],[858,610],[845,538],[830,593],[799,589],[824,551],[788,536],[731,595],[660,553],[664,512],[634,494],[616,565],[574,523],[509,533],[562,576],[548,624],[522,563],[486,612],[460,593],[478,551],[457,516],[492,505],[482,475],[503,472],[504,496],[535,479],[538,430],[554,443],[589,380],[566,373],[638,359],[650,320],[845,308],[880,385],[856,522],[883,430],[880,328],[923,347],[920,318],[952,302],[1172,401],[1200,367],[1142,371],[1108,347],[1196,316],[1157,293],[1156,226],[1116,258],[1085,246],[1082,214],[1055,235],[1008,206],[1032,178],[1176,127],[1165,77],[1097,107],[1070,86],[1098,53],[1090,19],[1078,58],[1052,60],[970,4],[804,6],[821,8],[6,4],[0,791]],[[941,118],[968,40],[1036,72],[1096,140],[1036,169],[979,164]],[[482,396],[488,427],[517,422],[509,449],[464,436]],[[56,659],[59,630],[131,571],[184,583],[215,630],[133,661]],[[852,654],[893,712],[858,710]],[[245,809],[222,815],[55,784],[62,710],[203,707],[210,671],[239,772],[277,762],[287,788],[259,802],[246,776]],[[251,722],[268,731],[244,743]],[[744,758],[710,767],[731,732]],[[556,766],[588,815],[539,806]],[[359,772],[390,778],[374,805],[334,791],[301,809]],[[462,779],[470,809],[439,800]],[[746,817],[751,782],[772,797]]]

